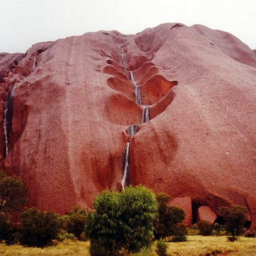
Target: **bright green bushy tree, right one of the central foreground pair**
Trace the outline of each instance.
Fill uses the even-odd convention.
[[[158,205],[155,194],[143,186],[128,187],[121,193],[120,220],[124,247],[138,252],[152,243]]]

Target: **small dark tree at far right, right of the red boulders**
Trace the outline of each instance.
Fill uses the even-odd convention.
[[[220,210],[225,217],[224,228],[232,234],[234,240],[235,234],[239,236],[243,232],[247,210],[241,205],[233,205],[230,208],[222,207]]]

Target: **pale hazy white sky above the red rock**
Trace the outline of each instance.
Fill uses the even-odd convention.
[[[90,31],[136,34],[165,22],[224,30],[256,49],[256,0],[0,0],[0,52]]]

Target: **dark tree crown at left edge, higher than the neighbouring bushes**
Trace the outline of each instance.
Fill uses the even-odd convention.
[[[16,176],[7,176],[0,171],[0,212],[19,210],[26,203],[27,188]]]

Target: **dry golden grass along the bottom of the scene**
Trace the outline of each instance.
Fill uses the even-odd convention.
[[[89,256],[89,242],[64,240],[47,248],[28,248],[0,244],[0,256]],[[152,250],[142,250],[136,256],[156,256]],[[256,256],[256,238],[239,237],[228,242],[226,236],[188,236],[187,242],[169,242],[170,256],[211,256],[231,251],[228,256]],[[134,255],[134,256],[135,256]],[[226,254],[227,255],[227,254]]]

